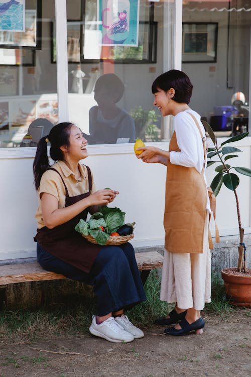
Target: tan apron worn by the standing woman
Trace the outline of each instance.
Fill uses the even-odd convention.
[[[174,131],[169,151],[180,151]],[[168,161],[164,215],[165,249],[202,253],[206,220],[207,187],[195,167]]]

